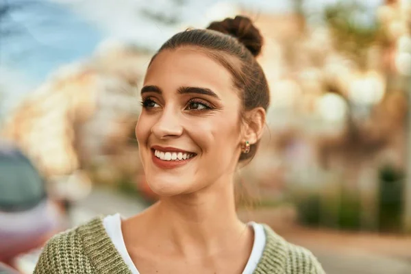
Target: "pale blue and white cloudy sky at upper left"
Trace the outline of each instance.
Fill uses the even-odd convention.
[[[319,10],[337,0],[306,0]],[[364,0],[375,7],[380,0]],[[13,105],[59,66],[88,58],[109,41],[134,42],[155,50],[179,29],[203,27],[242,5],[256,13],[292,10],[284,0],[0,0],[23,3],[0,21],[0,90]],[[29,4],[27,4],[29,3]],[[182,3],[182,4],[178,4]],[[171,25],[145,14],[177,18]],[[234,15],[234,14],[230,14]]]

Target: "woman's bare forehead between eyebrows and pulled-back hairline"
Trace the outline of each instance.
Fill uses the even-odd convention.
[[[166,49],[158,53],[147,69],[144,82],[162,90],[198,86],[210,88],[221,96],[227,90],[234,92],[228,69],[206,52],[194,48]]]

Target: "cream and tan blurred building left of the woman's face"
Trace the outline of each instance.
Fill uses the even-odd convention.
[[[134,128],[147,62],[149,55],[133,47],[102,47],[87,62],[55,72],[14,110],[2,133],[47,176],[119,153]]]

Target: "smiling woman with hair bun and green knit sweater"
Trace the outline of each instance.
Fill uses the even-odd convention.
[[[256,153],[269,106],[261,48],[242,16],[165,42],[147,69],[136,125],[160,201],[55,236],[35,273],[323,273],[310,251],[236,215],[234,173]]]

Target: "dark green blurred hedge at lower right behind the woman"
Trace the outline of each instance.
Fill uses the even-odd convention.
[[[321,192],[303,192],[295,195],[299,221],[311,227],[334,229],[378,229],[380,232],[401,232],[403,213],[404,173],[392,165],[379,169],[377,207],[377,227],[362,226],[362,203],[359,192],[342,185],[338,194],[326,195]],[[325,195],[325,196],[324,196]]]

